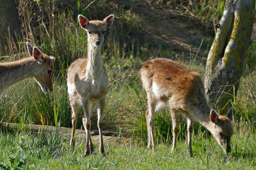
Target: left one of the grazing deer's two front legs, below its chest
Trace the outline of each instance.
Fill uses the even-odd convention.
[[[173,152],[176,147],[176,139],[179,132],[179,113],[177,112],[177,110],[174,109],[170,109],[170,111],[173,121],[173,146],[171,150],[171,152]]]

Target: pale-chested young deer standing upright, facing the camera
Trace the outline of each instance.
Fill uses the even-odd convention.
[[[67,86],[69,101],[72,108],[72,137],[70,146],[75,145],[74,134],[77,120],[78,105],[82,105],[82,123],[86,132],[85,155],[93,153],[91,142],[90,114],[95,104],[98,104],[98,128],[100,135],[100,151],[104,154],[102,138],[102,114],[105,107],[105,98],[108,91],[109,81],[106,68],[101,59],[101,44],[104,41],[105,30],[113,23],[114,15],[110,15],[103,21],[89,21],[79,15],[79,23],[87,32],[87,59],[77,59],[68,68]]]

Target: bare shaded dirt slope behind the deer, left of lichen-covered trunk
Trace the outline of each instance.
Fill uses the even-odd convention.
[[[170,5],[156,3],[156,0],[111,1],[123,5],[127,10],[132,9],[142,21],[141,37],[128,35],[128,38],[137,38],[139,41],[139,38],[146,37],[149,43],[161,44],[163,49],[173,51],[179,60],[190,59],[198,52],[198,57],[206,61],[207,51],[214,38],[213,26],[206,29],[198,18],[192,17],[188,12],[178,12],[178,9]]]

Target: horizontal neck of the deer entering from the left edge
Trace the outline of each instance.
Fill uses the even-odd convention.
[[[39,71],[38,65],[39,64],[34,58],[27,58],[1,66],[3,72],[0,75],[2,79],[2,82],[0,82],[0,89],[5,89],[25,78],[36,75]]]

